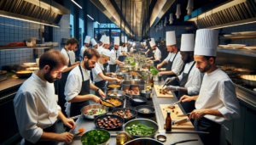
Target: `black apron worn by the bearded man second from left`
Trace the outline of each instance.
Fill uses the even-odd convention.
[[[84,75],[83,75],[83,71],[81,69],[81,65],[79,64],[79,70],[81,72],[82,75],[82,87],[81,87],[81,92],[79,93],[79,95],[87,95],[90,94],[90,78],[88,78],[87,81],[84,81]],[[88,70],[87,70],[88,71]],[[76,116],[81,114],[81,109],[86,106],[89,105],[89,100],[83,101],[83,102],[76,102],[76,103],[71,103],[70,106],[70,116]]]

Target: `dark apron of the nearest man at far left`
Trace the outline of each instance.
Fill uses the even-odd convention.
[[[44,128],[45,132],[53,132],[53,133],[57,133],[57,121],[55,121],[55,123],[47,128]],[[38,141],[35,143],[29,142],[25,139],[25,145],[57,145],[59,142],[56,141]]]

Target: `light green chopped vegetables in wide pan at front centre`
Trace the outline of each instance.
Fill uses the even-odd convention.
[[[130,134],[136,136],[148,136],[154,134],[155,132],[153,127],[148,127],[147,125],[143,125],[140,123],[137,125],[127,126],[125,130]]]

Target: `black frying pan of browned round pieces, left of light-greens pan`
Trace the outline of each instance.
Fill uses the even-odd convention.
[[[115,128],[102,128],[102,129],[108,130],[108,131],[113,131],[113,130],[116,131],[116,130],[120,130],[120,129],[123,128],[125,120],[122,117],[120,117],[119,115],[115,115],[115,114],[104,114],[104,115],[100,115],[100,116],[96,117],[96,119],[94,120],[94,124],[96,125],[96,127],[101,128],[97,124],[98,119],[100,119],[100,120],[103,120],[103,118],[107,118],[108,119],[108,116],[110,116],[112,119],[117,118],[120,121],[121,125],[117,126]]]

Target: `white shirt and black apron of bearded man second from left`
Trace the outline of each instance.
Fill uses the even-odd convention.
[[[90,71],[85,70],[81,64],[75,67],[67,77],[65,85],[66,100],[70,101],[78,95],[90,94]],[[66,112],[70,111],[69,116],[81,114],[80,109],[89,105],[89,100],[83,102],[67,103]]]

